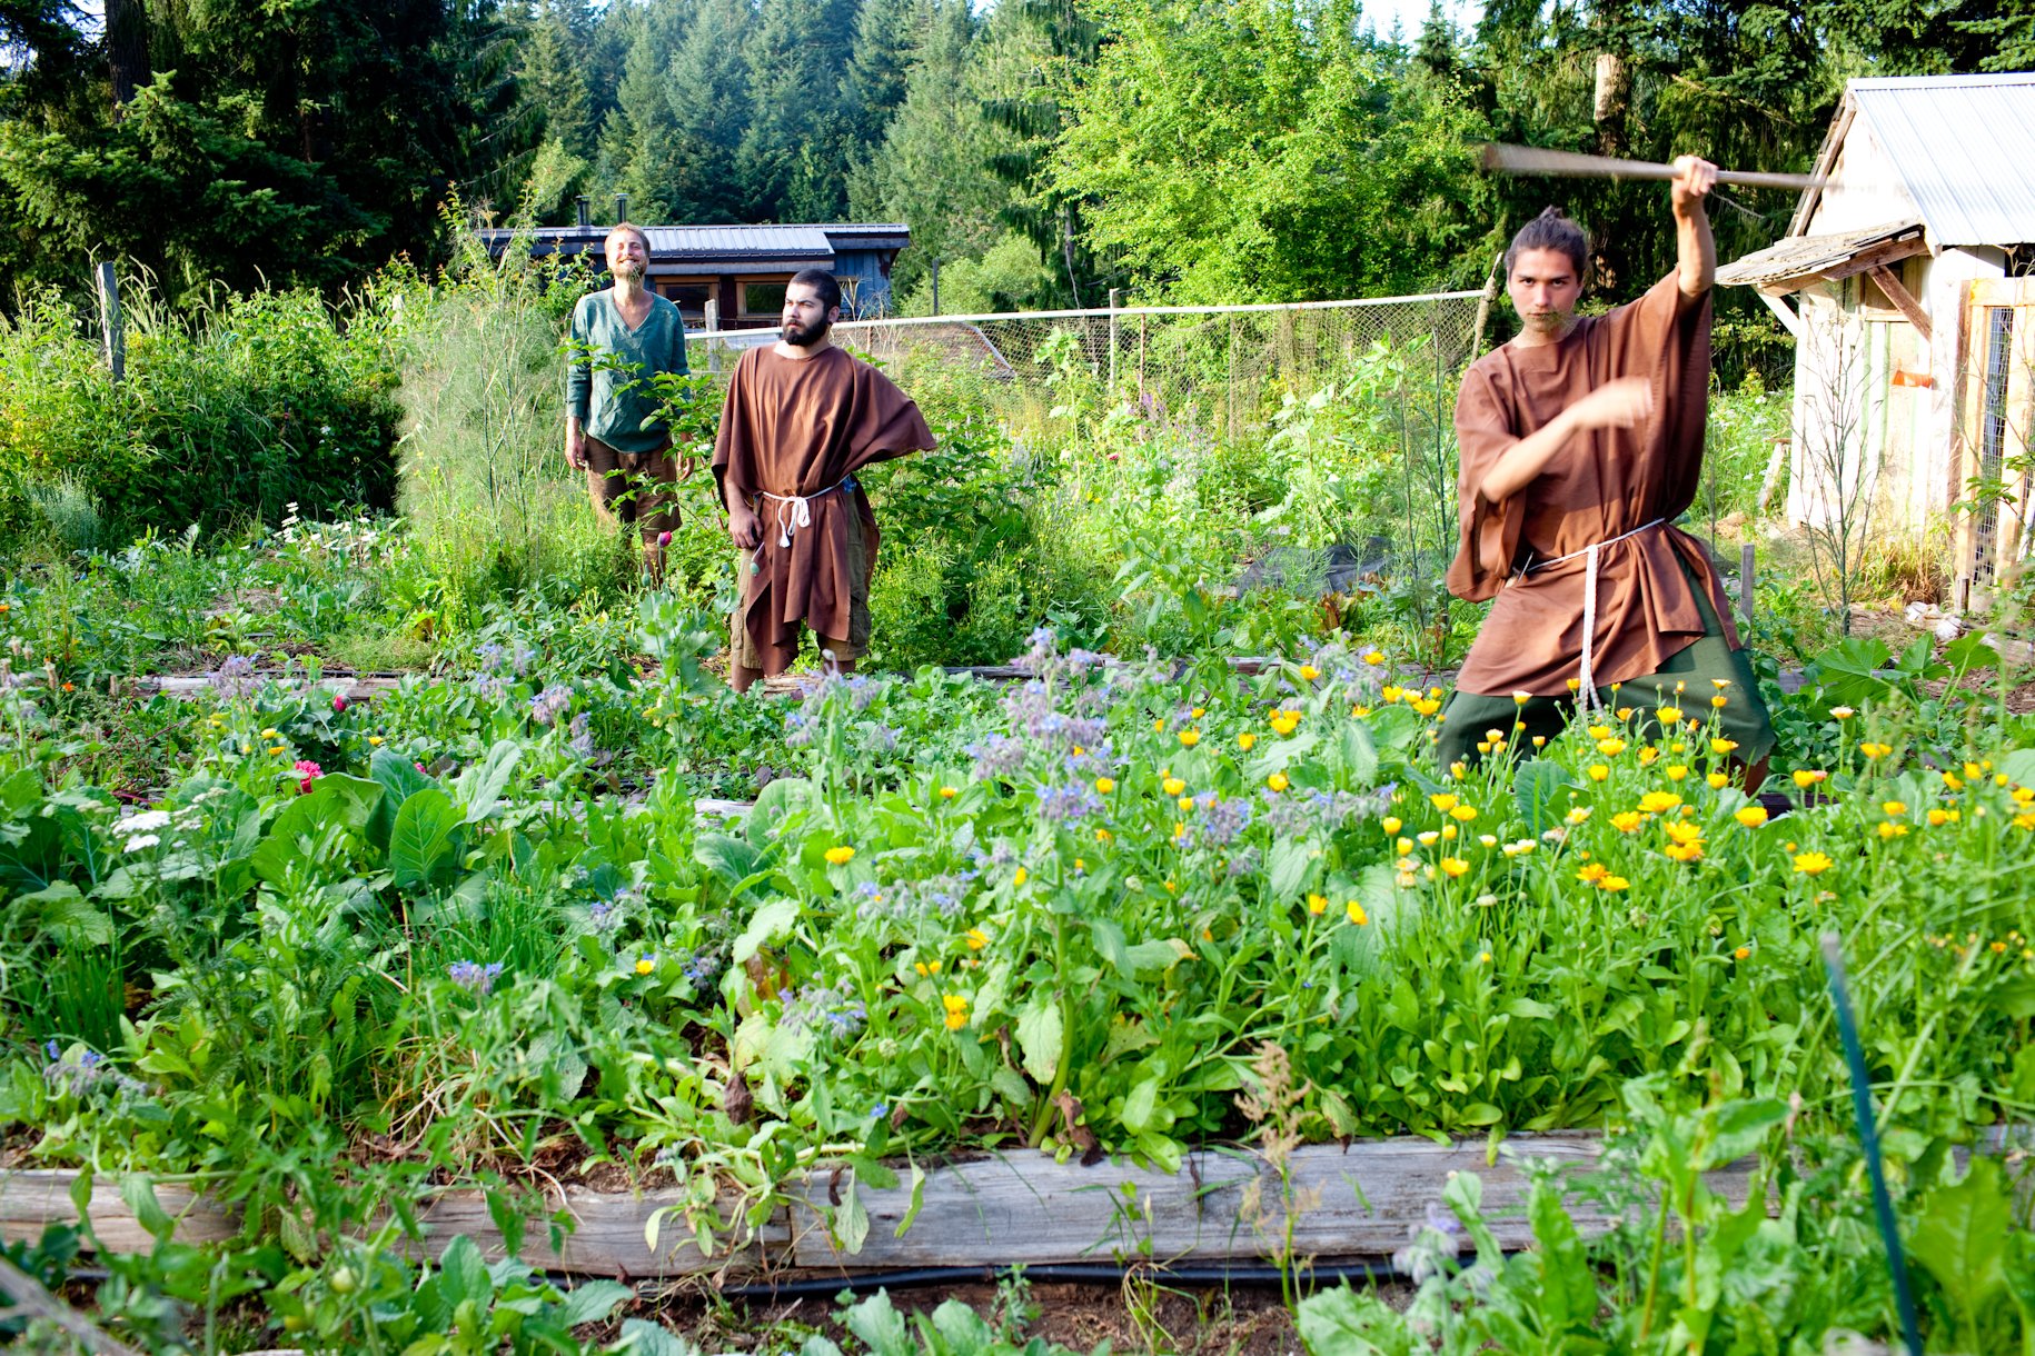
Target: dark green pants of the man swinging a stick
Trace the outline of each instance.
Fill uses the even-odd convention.
[[[1661,722],[1656,707],[1673,707],[1683,720],[1707,722],[1716,718],[1718,732],[1736,740],[1732,752],[1742,762],[1758,762],[1775,746],[1772,720],[1766,716],[1766,701],[1760,699],[1758,679],[1742,649],[1732,649],[1724,640],[1724,626],[1718,622],[1709,596],[1697,588],[1695,606],[1703,610],[1703,638],[1669,657],[1659,673],[1626,679],[1597,689],[1597,701],[1606,710],[1632,707],[1634,722],[1628,726],[1636,738],[1656,738]],[[1718,687],[1711,679],[1724,679]],[[1677,683],[1681,691],[1677,693]],[[1724,697],[1722,707],[1711,705],[1711,697]],[[1488,697],[1459,691],[1441,714],[1441,736],[1435,752],[1441,766],[1451,762],[1473,764],[1488,750],[1490,732],[1496,730],[1508,744],[1532,744],[1534,736],[1553,740],[1575,716],[1575,697],[1528,697],[1518,703],[1514,697]]]

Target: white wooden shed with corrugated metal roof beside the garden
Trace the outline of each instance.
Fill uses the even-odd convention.
[[[2035,547],[2035,73],[1854,79],[1813,179],[1718,270],[1795,335],[1789,518],[1950,516],[1966,606]]]

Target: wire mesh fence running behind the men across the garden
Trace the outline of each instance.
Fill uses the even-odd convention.
[[[1288,394],[1345,380],[1380,346],[1418,344],[1453,374],[1475,342],[1479,299],[936,315],[845,321],[834,340],[883,364],[930,417],[967,409],[1024,429],[1081,384],[1235,441],[1266,433]],[[775,329],[694,333],[692,364],[726,372],[739,350],[775,337]]]

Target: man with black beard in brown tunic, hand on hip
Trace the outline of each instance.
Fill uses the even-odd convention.
[[[783,337],[735,364],[714,439],[714,480],[741,547],[743,602],[729,636],[729,681],[749,691],[783,673],[800,626],[840,671],[869,644],[877,520],[855,472],[934,447],[918,407],[828,329],[840,285],[822,268],[783,295]]]

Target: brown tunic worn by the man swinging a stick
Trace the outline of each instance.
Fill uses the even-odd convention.
[[[1477,492],[1508,447],[1620,376],[1652,380],[1652,419],[1634,429],[1579,433],[1526,488],[1498,504]],[[1469,366],[1455,400],[1461,541],[1449,592],[1498,602],[1469,646],[1457,689],[1567,693],[1583,655],[1585,559],[1528,575],[1520,569],[1610,543],[1654,518],[1667,522],[1597,551],[1595,683],[1656,673],[1703,634],[1677,555],[1709,592],[1726,642],[1738,646],[1709,553],[1673,527],[1695,502],[1707,413],[1709,297],[1683,309],[1673,272],[1638,301],[1579,319],[1561,344],[1506,344]]]

